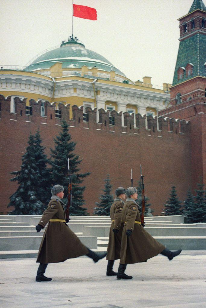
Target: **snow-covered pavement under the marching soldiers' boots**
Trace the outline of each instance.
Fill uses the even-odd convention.
[[[49,264],[51,282],[35,282],[34,258],[1,260],[1,308],[205,308],[206,251],[158,255],[127,266],[132,280],[106,276],[107,261],[88,257]],[[118,268],[115,262],[114,270]]]

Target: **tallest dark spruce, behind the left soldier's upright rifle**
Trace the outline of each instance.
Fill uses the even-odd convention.
[[[79,156],[74,154],[76,143],[71,141],[71,135],[69,134],[69,125],[63,119],[61,122],[62,131],[59,136],[54,139],[55,148],[51,149],[51,177],[52,184],[59,184],[64,186],[65,198],[63,202],[67,203],[68,196],[68,158],[69,167],[71,170],[72,179],[72,205],[70,206],[69,213],[71,215],[87,215],[86,208],[82,205],[85,204],[83,200],[83,192],[85,186],[79,186],[83,179],[90,174],[90,172],[79,173],[80,168],[78,165],[81,163]]]

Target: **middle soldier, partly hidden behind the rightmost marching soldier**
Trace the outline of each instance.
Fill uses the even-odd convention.
[[[109,243],[107,246],[107,276],[117,275],[117,273],[114,272],[112,269],[114,265],[114,260],[120,258],[120,247],[123,230],[122,208],[126,199],[125,192],[126,189],[123,187],[118,187],[115,190],[116,198],[112,203],[110,209],[111,227],[109,232]]]

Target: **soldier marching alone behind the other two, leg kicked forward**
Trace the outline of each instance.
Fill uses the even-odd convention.
[[[54,185],[51,201],[44,211],[36,231],[40,232],[48,223],[42,238],[36,262],[40,262],[37,270],[36,281],[51,281],[52,278],[44,276],[48,263],[63,262],[66,259],[86,255],[99,261],[106,253],[96,253],[84,246],[78,237],[71,231],[65,221],[64,187]],[[67,221],[68,222],[68,221]]]

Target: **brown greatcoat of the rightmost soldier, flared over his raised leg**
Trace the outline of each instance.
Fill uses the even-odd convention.
[[[140,213],[135,201],[126,201],[122,210],[122,243],[120,252],[120,264],[143,262],[150,259],[165,249],[165,246],[156,241],[142,225],[135,223],[140,221]],[[127,237],[126,230],[132,230]]]

